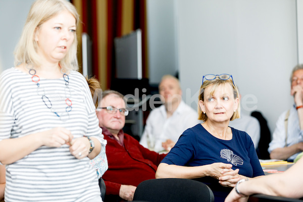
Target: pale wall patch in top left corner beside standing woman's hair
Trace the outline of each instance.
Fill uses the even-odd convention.
[[[14,66],[14,49],[34,0],[0,1],[0,61],[3,69]]]

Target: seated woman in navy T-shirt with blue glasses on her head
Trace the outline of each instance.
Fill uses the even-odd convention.
[[[198,119],[158,167],[156,178],[199,178],[224,201],[240,180],[264,175],[250,136],[228,127],[239,118],[239,93],[231,75],[205,75],[200,87]],[[241,181],[240,181],[241,182]]]

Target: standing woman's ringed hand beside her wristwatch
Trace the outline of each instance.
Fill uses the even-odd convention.
[[[77,159],[87,157],[90,143],[87,137],[78,137],[73,139],[70,146],[70,153]]]

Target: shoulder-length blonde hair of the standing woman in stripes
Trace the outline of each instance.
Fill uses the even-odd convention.
[[[34,67],[40,66],[40,57],[37,54],[37,43],[34,40],[35,32],[47,20],[67,10],[76,19],[76,26],[79,23],[79,15],[76,8],[67,0],[36,0],[28,13],[20,40],[15,49],[14,65],[31,64]],[[77,37],[75,32],[74,41],[69,52],[60,65],[65,70],[78,70],[77,62]]]

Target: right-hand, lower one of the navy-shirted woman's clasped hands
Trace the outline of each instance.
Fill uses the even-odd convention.
[[[219,183],[222,186],[234,187],[236,183],[241,179],[238,173],[239,169],[223,169],[221,172],[222,176],[219,177]]]

